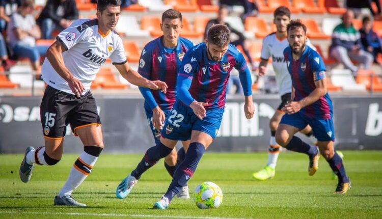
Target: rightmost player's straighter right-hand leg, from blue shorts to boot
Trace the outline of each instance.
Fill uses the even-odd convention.
[[[350,189],[350,179],[346,174],[341,156],[334,150],[334,126],[332,119],[315,120],[311,124],[321,155],[328,161],[329,166],[338,177],[336,193],[344,194]]]

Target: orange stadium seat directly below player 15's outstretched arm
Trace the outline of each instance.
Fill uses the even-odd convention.
[[[128,86],[122,84],[114,75],[111,68],[101,68],[94,79],[91,88],[102,87],[105,89],[125,89]]]

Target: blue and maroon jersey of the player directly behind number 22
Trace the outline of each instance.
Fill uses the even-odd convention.
[[[149,104],[150,108],[157,104],[162,110],[171,110],[176,100],[179,66],[186,51],[193,46],[193,42],[179,37],[175,48],[166,48],[162,36],[150,41],[142,50],[138,72],[149,80],[165,81],[168,86],[166,94],[160,90],[150,90],[155,102],[144,95],[145,104]]]

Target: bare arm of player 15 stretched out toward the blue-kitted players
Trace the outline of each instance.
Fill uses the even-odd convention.
[[[122,65],[115,65],[119,73],[128,80],[131,84],[150,88],[152,90],[161,90],[163,93],[167,92],[167,84],[160,80],[148,80],[142,77],[137,71],[133,70],[126,62]]]

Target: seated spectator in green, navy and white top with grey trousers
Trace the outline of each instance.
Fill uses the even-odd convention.
[[[365,69],[370,69],[373,56],[362,49],[360,32],[354,29],[353,18],[353,12],[351,10],[346,11],[342,16],[342,23],[334,28],[330,56],[342,63],[345,68],[350,69],[353,74],[356,74],[359,67],[355,66],[350,59],[356,60]]]

